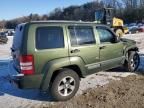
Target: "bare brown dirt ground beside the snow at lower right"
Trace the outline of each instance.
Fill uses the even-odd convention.
[[[144,76],[133,75],[43,108],[144,108]]]

